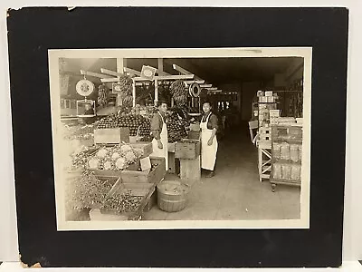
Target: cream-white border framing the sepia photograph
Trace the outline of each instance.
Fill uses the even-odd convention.
[[[310,123],[311,47],[241,47],[187,49],[60,49],[49,50],[52,111],[52,144],[56,219],[58,230],[187,229],[187,228],[310,228]],[[303,57],[303,150],[300,189],[300,219],[272,220],[152,220],[152,221],[66,221],[62,184],[62,143],[59,58],[205,58],[205,57]],[[56,148],[58,146],[58,148]]]

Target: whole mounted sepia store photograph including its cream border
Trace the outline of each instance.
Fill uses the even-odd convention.
[[[310,228],[310,47],[48,56],[58,230]]]

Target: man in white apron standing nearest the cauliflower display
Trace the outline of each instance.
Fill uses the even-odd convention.
[[[154,157],[163,157],[168,170],[168,138],[166,125],[167,102],[158,102],[158,112],[152,118],[151,132],[153,136],[152,147]]]

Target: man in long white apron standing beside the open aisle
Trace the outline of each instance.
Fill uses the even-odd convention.
[[[218,130],[217,116],[211,112],[210,102],[204,102],[205,112],[200,123],[201,128],[201,168],[209,170],[206,178],[214,176],[214,165],[217,153],[216,131]]]

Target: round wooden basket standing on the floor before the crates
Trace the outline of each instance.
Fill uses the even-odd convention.
[[[175,212],[185,209],[189,186],[178,181],[163,181],[157,185],[159,209]]]

